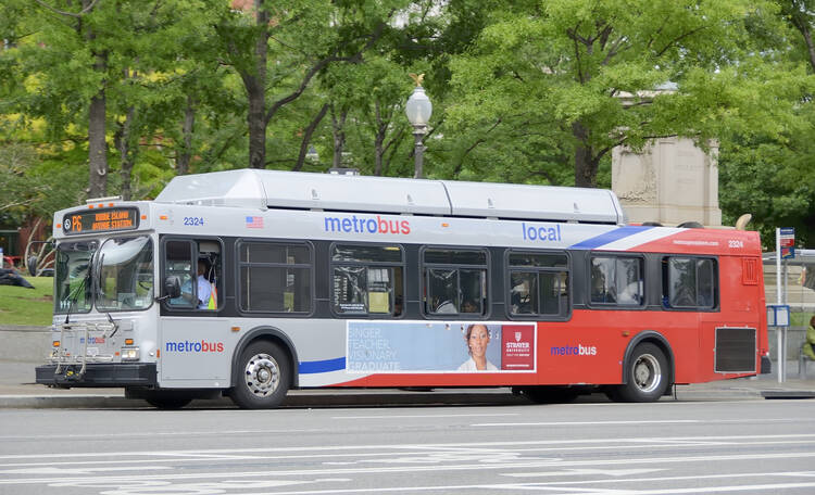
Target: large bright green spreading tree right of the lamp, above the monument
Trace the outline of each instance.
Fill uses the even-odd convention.
[[[800,67],[768,63],[748,29],[778,24],[776,12],[748,0],[513,2],[454,59],[450,116],[485,140],[527,129],[519,142],[568,151],[574,183],[587,187],[617,145],[777,135],[806,82]]]

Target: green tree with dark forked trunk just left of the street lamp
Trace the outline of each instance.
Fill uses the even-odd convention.
[[[248,101],[249,166],[266,167],[266,129],[312,79],[338,62],[360,63],[397,12],[399,0],[240,2],[218,24],[227,63]]]

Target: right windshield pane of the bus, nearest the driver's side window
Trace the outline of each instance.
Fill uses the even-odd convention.
[[[108,239],[99,250],[97,309],[145,309],[153,302],[153,242],[147,236]]]

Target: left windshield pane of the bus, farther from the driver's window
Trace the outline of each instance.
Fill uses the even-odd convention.
[[[92,303],[90,262],[97,241],[64,242],[57,248],[54,313],[88,313]]]

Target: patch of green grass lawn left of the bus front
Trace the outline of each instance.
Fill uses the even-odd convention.
[[[53,277],[25,277],[34,289],[0,285],[0,325],[49,327],[53,315]]]

